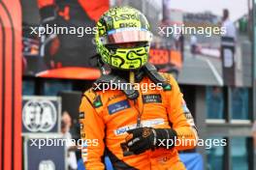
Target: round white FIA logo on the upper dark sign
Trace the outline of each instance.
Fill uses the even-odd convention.
[[[57,121],[57,111],[46,99],[31,99],[22,109],[22,122],[31,132],[49,131]]]

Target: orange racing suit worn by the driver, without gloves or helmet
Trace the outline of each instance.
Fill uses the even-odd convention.
[[[140,155],[124,156],[121,143],[126,130],[136,128],[138,115],[143,127],[174,128],[178,139],[196,141],[198,135],[191,113],[187,109],[174,77],[164,74],[170,88],[140,90],[139,98],[127,99],[119,90],[87,90],[80,103],[80,135],[86,141],[81,148],[85,168],[105,168],[102,157],[107,155],[115,169],[183,170],[177,151],[193,149],[194,144],[177,144],[173,149],[148,150]],[[140,85],[149,85],[148,77]],[[142,87],[141,86],[141,87]],[[149,86],[147,86],[149,87]]]

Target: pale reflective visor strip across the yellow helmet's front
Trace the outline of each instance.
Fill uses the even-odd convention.
[[[121,31],[119,31],[121,30]],[[151,42],[152,33],[147,30],[122,30],[110,31],[107,36],[100,38],[103,44],[125,42]]]

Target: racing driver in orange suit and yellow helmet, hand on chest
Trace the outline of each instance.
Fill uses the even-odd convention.
[[[81,99],[85,168],[103,170],[109,156],[114,169],[184,170],[178,151],[195,148],[197,130],[175,78],[147,62],[152,34],[144,14],[112,8],[97,30],[100,68],[111,71],[102,71]],[[146,91],[138,88],[144,85]],[[180,142],[188,140],[194,142]]]

